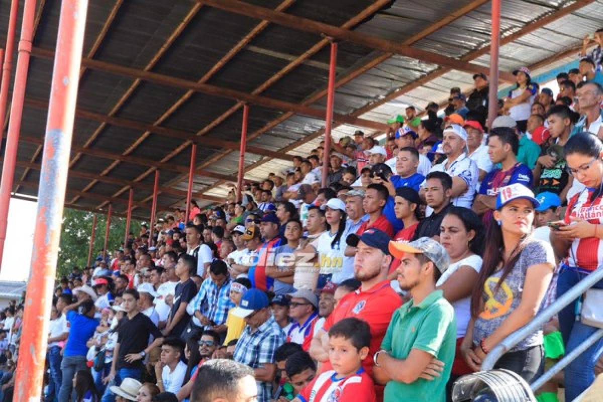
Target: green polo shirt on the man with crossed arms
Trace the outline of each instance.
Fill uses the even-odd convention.
[[[442,291],[432,292],[417,306],[412,303],[408,301],[394,312],[381,348],[396,359],[406,359],[412,348],[425,350],[444,362],[444,371],[431,381],[388,382],[384,402],[444,402],[456,350],[454,308]]]

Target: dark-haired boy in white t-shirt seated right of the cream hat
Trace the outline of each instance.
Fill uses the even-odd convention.
[[[175,336],[168,336],[161,345],[159,362],[155,365],[157,386],[160,392],[180,391],[186,375],[186,364],[182,361],[185,342]]]

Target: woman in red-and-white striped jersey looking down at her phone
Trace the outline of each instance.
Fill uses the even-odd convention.
[[[603,245],[603,143],[593,134],[579,133],[564,146],[567,169],[586,189],[567,202],[563,221],[553,222],[551,244],[564,259],[557,278],[557,297],[603,266],[598,252]],[[593,286],[603,289],[603,280]],[[579,319],[579,303],[573,301],[558,313],[566,353],[570,353],[598,328]],[[578,307],[576,307],[578,304]],[[578,317],[578,318],[576,318]],[[571,401],[595,380],[596,361],[603,353],[603,339],[587,348],[565,368],[565,397]]]

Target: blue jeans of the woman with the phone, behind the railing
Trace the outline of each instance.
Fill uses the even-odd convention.
[[[576,283],[585,278],[589,273],[579,268],[561,266],[559,277],[557,278],[557,297],[561,297],[569,291]],[[594,289],[603,289],[603,280],[593,286]],[[568,304],[559,313],[559,327],[566,353],[574,350],[586,338],[592,335],[599,328],[582,324],[579,317],[576,320],[576,301]],[[564,370],[565,377],[565,400],[573,401],[578,395],[595,381],[595,364],[599,356],[603,353],[603,339],[595,342],[590,348],[582,352],[580,356],[569,363]]]

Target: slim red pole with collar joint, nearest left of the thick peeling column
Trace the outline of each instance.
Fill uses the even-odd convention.
[[[19,131],[21,130],[25,86],[27,86],[27,71],[30,66],[35,14],[36,0],[25,0],[21,40],[19,40],[19,58],[17,59],[17,70],[14,77],[13,102],[10,107],[10,121],[8,122],[4,163],[2,164],[2,183],[0,183],[0,266],[2,266],[2,255],[4,254],[4,240],[6,240],[8,207],[10,206],[10,193],[13,189],[14,165],[17,162],[17,147],[19,146]],[[8,57],[12,53],[8,52],[9,50],[11,49],[7,48]],[[80,62],[78,61],[78,63]],[[6,75],[10,77],[10,73]],[[8,83],[5,88],[8,91]]]

